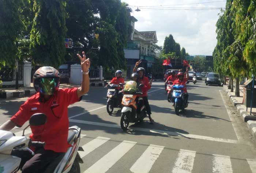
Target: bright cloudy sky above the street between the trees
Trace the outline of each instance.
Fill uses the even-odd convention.
[[[189,55],[212,55],[216,46],[216,22],[218,10],[184,11],[162,10],[163,7],[175,8],[225,8],[221,0],[121,0],[133,6],[131,15],[138,19],[135,29],[138,31],[157,31],[158,45],[163,46],[165,37],[173,35],[174,40],[186,49]],[[215,2],[212,2],[215,1]],[[221,1],[221,2],[216,2]],[[208,3],[212,2],[212,3]],[[201,4],[191,4],[201,3]],[[187,5],[176,5],[187,4]],[[162,7],[145,7],[162,5]],[[163,6],[172,5],[172,6]],[[135,7],[136,6],[136,7]],[[144,7],[142,7],[144,6]],[[135,9],[139,7],[141,11]],[[158,9],[142,9],[158,8]],[[160,10],[161,9],[161,10]]]

